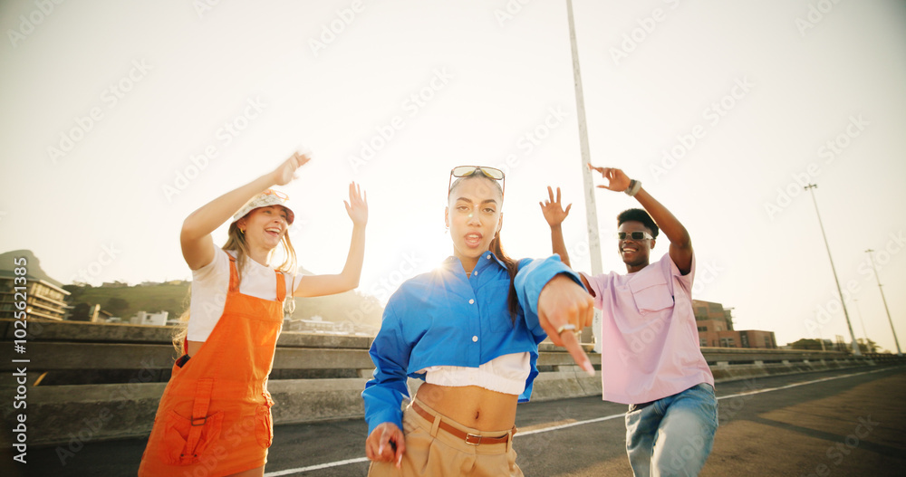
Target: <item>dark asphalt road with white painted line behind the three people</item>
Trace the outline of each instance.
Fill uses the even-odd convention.
[[[720,425],[703,476],[906,474],[906,367],[726,382],[717,394]],[[519,405],[516,462],[528,476],[631,475],[625,410],[600,397]],[[362,420],[279,425],[265,476],[366,475],[366,430]],[[0,474],[135,475],[144,444],[86,444],[64,465],[55,447],[30,448],[25,465],[10,468],[3,455]]]

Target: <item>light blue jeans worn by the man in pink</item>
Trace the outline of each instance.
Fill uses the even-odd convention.
[[[718,400],[708,383],[626,413],[626,453],[636,477],[698,475],[718,430]]]

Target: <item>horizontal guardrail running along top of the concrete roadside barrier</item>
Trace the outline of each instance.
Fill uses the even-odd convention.
[[[79,321],[29,321],[23,354],[14,353],[14,320],[0,320],[0,386],[12,383],[13,359],[29,359],[31,376],[43,385],[115,384],[130,382],[137,373],[143,382],[167,382],[176,351],[170,344],[175,327],[99,324]],[[20,333],[21,334],[21,333]],[[284,332],[277,341],[271,379],[371,376],[368,348],[371,338]],[[573,366],[572,358],[543,343],[538,366],[542,372]],[[591,351],[591,346],[586,346]],[[701,348],[711,367],[768,365],[815,360],[853,360],[841,351],[762,348]],[[592,354],[593,364],[601,363]],[[896,361],[895,355],[862,358]],[[33,381],[34,386],[34,381]]]

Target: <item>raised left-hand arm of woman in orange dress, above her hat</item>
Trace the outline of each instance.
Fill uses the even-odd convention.
[[[295,170],[311,157],[295,152],[274,171],[260,176],[245,186],[239,186],[219,196],[186,217],[179,233],[182,256],[188,268],[198,270],[214,260],[214,239],[211,234],[236,214],[246,202],[270,186],[284,186],[294,178]]]

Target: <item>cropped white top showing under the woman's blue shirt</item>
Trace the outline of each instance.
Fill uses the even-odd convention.
[[[432,366],[425,373],[425,382],[438,386],[478,386],[491,391],[519,396],[525,391],[525,380],[532,371],[527,351],[491,359],[478,367]]]

